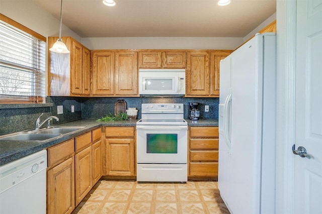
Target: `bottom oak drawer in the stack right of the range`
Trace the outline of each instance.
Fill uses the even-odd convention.
[[[190,163],[191,176],[218,176],[218,163]]]

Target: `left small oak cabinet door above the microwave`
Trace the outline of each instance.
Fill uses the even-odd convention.
[[[140,51],[138,56],[139,68],[161,68],[161,51]]]

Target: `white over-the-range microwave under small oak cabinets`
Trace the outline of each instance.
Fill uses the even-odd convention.
[[[142,95],[179,95],[185,91],[185,69],[139,70],[139,93]]]

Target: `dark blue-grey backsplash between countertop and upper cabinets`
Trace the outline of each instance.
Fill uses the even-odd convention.
[[[23,130],[33,129],[35,121],[41,113],[42,120],[49,116],[56,116],[59,121],[54,124],[61,124],[81,119],[99,119],[109,113],[114,114],[115,102],[124,99],[127,108],[135,107],[138,110],[137,119],[141,118],[142,103],[183,103],[184,118],[188,119],[189,102],[198,102],[200,110],[200,120],[218,119],[219,98],[186,98],[186,97],[69,97],[69,96],[47,96],[46,102],[53,106],[33,107],[33,108],[0,108],[0,135],[10,134]],[[57,115],[57,106],[63,106],[63,114]],[[74,112],[71,113],[71,105]],[[209,105],[209,112],[204,112],[205,105]],[[189,120],[189,119],[188,119]]]

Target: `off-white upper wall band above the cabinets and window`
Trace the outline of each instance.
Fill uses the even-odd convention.
[[[41,34],[44,37],[59,35],[59,20],[32,1],[0,0],[0,13]],[[62,36],[71,36],[89,49],[235,49],[259,30],[276,19],[276,14],[264,21],[244,38],[215,37],[130,37],[81,38],[66,26]]]

